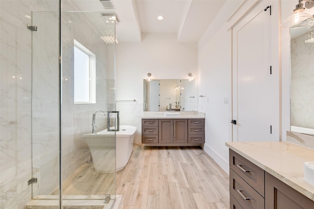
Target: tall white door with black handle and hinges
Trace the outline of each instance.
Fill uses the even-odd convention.
[[[268,5],[260,3],[233,28],[233,141],[279,140],[279,70],[271,70],[278,49]]]

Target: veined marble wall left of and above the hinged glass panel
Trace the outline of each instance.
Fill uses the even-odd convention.
[[[31,199],[32,12],[58,11],[57,0],[0,1],[0,208]],[[57,69],[56,69],[57,70]]]

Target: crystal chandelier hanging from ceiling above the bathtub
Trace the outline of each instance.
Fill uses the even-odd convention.
[[[113,28],[113,24],[117,23],[117,19],[115,16],[102,16],[105,21],[105,30],[102,31],[102,39],[105,41],[106,44],[119,44],[118,36],[115,33]]]

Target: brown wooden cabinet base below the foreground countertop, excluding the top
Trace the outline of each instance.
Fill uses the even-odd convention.
[[[230,209],[314,209],[314,201],[229,149]]]

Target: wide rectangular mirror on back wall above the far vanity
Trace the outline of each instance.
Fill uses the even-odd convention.
[[[144,111],[197,111],[197,80],[154,79],[143,80]]]

